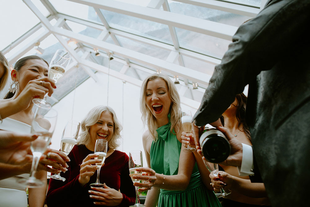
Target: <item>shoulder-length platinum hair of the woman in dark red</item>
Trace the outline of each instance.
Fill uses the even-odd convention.
[[[108,141],[108,149],[116,149],[119,146],[117,142],[118,138],[121,138],[122,125],[121,122],[117,119],[115,111],[108,106],[96,106],[92,108],[86,117],[81,122],[81,134],[78,139],[77,144],[87,144],[91,140],[91,136],[89,134],[89,129],[92,125],[96,124],[100,119],[101,113],[104,111],[108,111],[113,118],[114,126],[113,126],[113,135],[111,140]]]

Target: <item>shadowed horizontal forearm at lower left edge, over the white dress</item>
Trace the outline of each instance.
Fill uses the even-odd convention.
[[[28,165],[11,165],[0,163],[0,180],[24,173],[29,173]]]

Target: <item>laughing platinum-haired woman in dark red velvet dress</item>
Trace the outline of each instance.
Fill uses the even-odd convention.
[[[46,202],[52,206],[129,206],[135,203],[135,187],[129,176],[128,156],[116,150],[122,126],[108,106],[96,106],[81,122],[81,137],[68,155],[68,171],[61,173],[64,182],[50,179]],[[100,169],[103,188],[89,185],[96,182],[94,160],[97,139],[108,141],[108,153]]]

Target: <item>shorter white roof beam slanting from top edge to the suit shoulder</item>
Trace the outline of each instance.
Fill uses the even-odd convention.
[[[193,4],[199,7],[207,7],[210,9],[216,9],[220,11],[226,11],[250,17],[255,17],[259,13],[258,7],[245,6],[225,1],[217,1],[217,0],[173,0],[173,1]]]

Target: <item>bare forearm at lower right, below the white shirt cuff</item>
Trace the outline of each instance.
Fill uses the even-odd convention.
[[[235,191],[249,197],[262,198],[266,197],[266,189],[263,183],[251,182],[247,179],[242,179],[234,176],[234,189]]]

